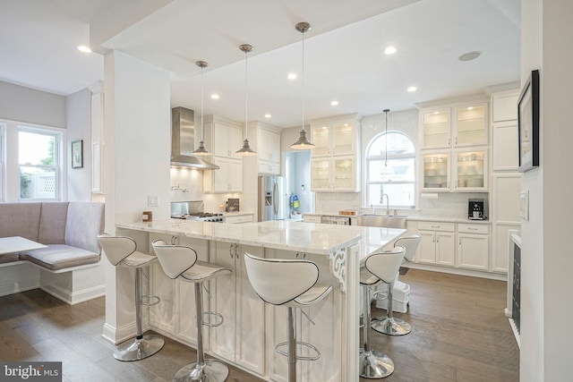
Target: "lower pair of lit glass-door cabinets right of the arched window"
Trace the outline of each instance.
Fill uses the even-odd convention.
[[[422,191],[488,190],[487,149],[424,150],[421,155]]]

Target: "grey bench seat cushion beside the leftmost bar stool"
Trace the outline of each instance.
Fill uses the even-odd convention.
[[[20,259],[28,260],[51,271],[57,271],[97,263],[99,254],[65,244],[53,244],[41,250],[27,250],[21,253]]]

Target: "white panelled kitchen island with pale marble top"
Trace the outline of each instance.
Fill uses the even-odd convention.
[[[136,232],[134,232],[136,231]],[[328,298],[298,317],[297,338],[321,351],[318,361],[299,361],[303,381],[358,381],[359,265],[368,254],[391,244],[406,230],[268,221],[226,225],[163,220],[117,225],[117,234],[138,238],[140,250],[150,242],[188,244],[204,261],[230,267],[233,273],[212,280],[205,307],[225,317],[206,331],[206,351],[259,378],[286,380],[286,358],[274,352],[286,341],[286,309],[265,304],[252,291],[244,272],[244,252],[280,259],[311,259],[321,282],[333,284]],[[150,294],[161,302],[150,307],[149,327],[195,346],[192,284],[168,279],[159,264],[150,270]]]

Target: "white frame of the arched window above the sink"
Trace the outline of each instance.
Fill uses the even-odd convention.
[[[414,179],[412,182],[406,182],[406,181],[398,181],[398,182],[371,182],[370,178],[369,178],[369,174],[370,174],[370,166],[371,163],[373,161],[384,161],[386,160],[386,156],[385,155],[371,155],[369,156],[368,153],[369,151],[372,149],[372,146],[374,144],[374,142],[376,140],[381,139],[384,135],[389,135],[389,134],[399,134],[402,135],[404,137],[406,137],[407,140],[410,141],[410,143],[412,144],[412,147],[414,148],[413,151],[411,153],[407,153],[407,154],[396,154],[396,155],[389,155],[388,156],[388,160],[403,160],[403,159],[413,159],[414,160]],[[380,132],[378,134],[376,134],[375,136],[372,137],[372,139],[370,140],[370,142],[368,142],[368,145],[366,146],[366,149],[364,151],[364,192],[363,192],[363,201],[364,201],[364,205],[368,204],[370,206],[370,204],[372,204],[372,207],[375,208],[386,208],[386,205],[382,204],[382,203],[378,203],[378,204],[374,204],[374,203],[370,203],[369,204],[369,200],[370,198],[370,186],[372,184],[414,184],[414,197],[413,197],[413,204],[411,206],[403,206],[403,205],[397,205],[397,204],[390,204],[389,208],[392,209],[414,209],[416,208],[417,205],[417,194],[418,194],[418,151],[415,147],[415,140],[412,140],[412,137],[410,137],[406,132],[402,132],[399,130],[389,130],[388,132],[384,131],[384,132]],[[391,200],[390,200],[391,203]]]

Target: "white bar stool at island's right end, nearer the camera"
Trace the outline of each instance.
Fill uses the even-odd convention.
[[[363,289],[363,342],[358,358],[358,371],[362,378],[385,378],[394,372],[394,362],[383,352],[372,350],[370,346],[371,329],[371,286],[380,282],[390,283],[402,264],[404,247],[395,247],[391,251],[372,253],[360,269],[360,284]]]

